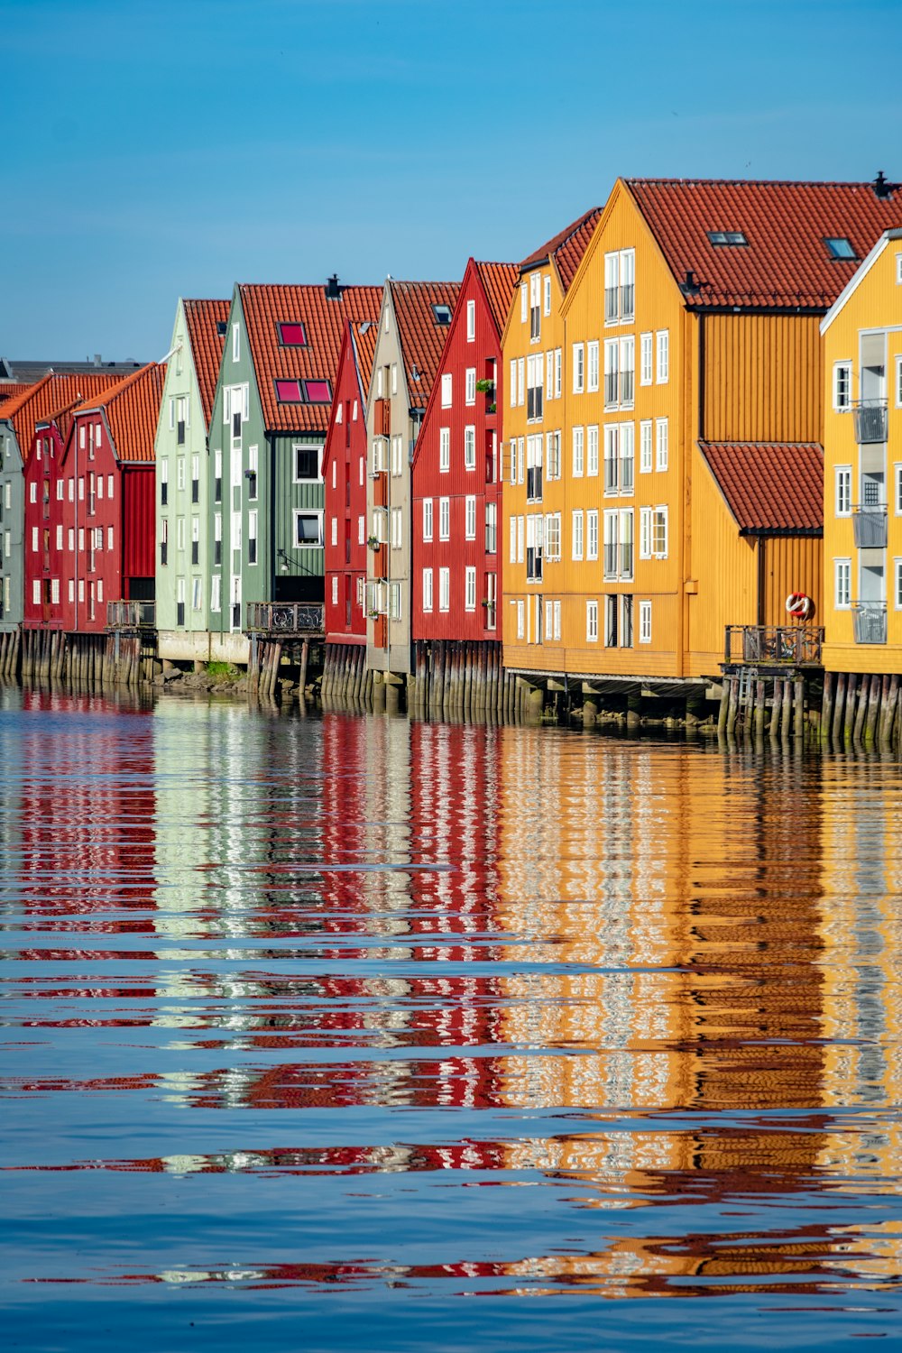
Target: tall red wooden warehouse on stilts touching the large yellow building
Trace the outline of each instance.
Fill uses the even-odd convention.
[[[500,672],[502,330],[517,279],[514,264],[467,264],[414,451],[411,637],[438,713],[471,689],[491,705]]]

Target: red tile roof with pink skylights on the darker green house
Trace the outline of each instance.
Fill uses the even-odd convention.
[[[276,380],[327,380],[334,392],[345,321],[379,317],[381,287],[342,287],[330,300],[325,285],[239,285],[257,387],[269,432],[321,432],[329,428],[329,403],[280,403]],[[283,346],[279,325],[304,326],[304,346]]]

